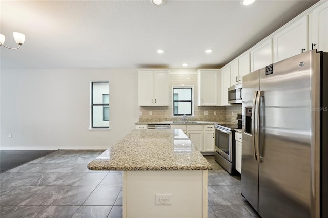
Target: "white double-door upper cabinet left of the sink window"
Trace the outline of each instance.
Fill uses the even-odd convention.
[[[169,70],[139,70],[139,106],[169,106]]]

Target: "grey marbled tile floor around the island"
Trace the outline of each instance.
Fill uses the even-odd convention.
[[[90,171],[100,150],[58,150],[0,174],[0,217],[122,217],[122,172]],[[230,176],[206,156],[208,217],[258,217]]]

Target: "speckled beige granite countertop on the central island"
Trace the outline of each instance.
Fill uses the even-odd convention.
[[[88,164],[90,170],[211,170],[181,129],[135,129]]]

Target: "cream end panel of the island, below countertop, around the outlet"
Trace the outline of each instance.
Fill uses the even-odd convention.
[[[124,171],[123,217],[207,217],[207,170]],[[155,205],[155,194],[172,194]]]

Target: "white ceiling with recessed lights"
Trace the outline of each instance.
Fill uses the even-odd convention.
[[[306,0],[0,1],[2,69],[217,68],[315,4]],[[213,49],[211,54],[204,52]],[[165,50],[158,54],[157,49]]]

